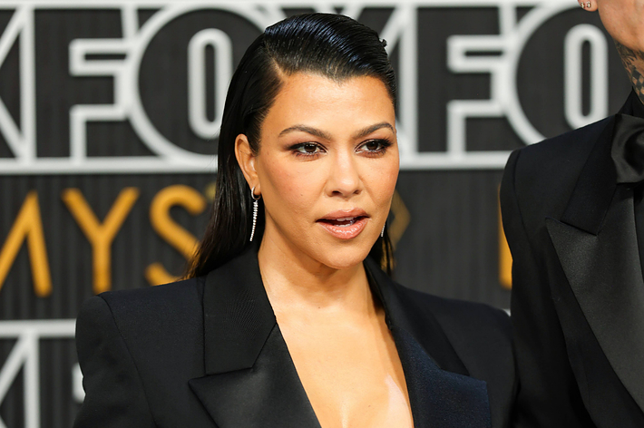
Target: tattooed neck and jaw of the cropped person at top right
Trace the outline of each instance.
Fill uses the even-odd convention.
[[[630,83],[644,102],[644,0],[592,0],[589,11],[599,11]]]

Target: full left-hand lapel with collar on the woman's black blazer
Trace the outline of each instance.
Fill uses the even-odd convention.
[[[210,272],[203,295],[206,375],[189,384],[227,427],[319,427],[249,249]]]

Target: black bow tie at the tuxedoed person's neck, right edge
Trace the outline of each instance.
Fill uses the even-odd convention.
[[[644,181],[644,119],[615,115],[610,156],[615,162],[618,183]]]

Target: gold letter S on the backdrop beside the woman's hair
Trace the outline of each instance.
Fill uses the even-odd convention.
[[[206,209],[206,199],[200,192],[189,186],[181,184],[169,186],[157,193],[152,199],[150,220],[152,228],[156,230],[159,236],[176,248],[184,258],[190,260],[197,247],[198,240],[171,218],[170,209],[177,205],[196,216]],[[146,268],[145,277],[151,286],[167,284],[178,279],[178,277],[169,274],[161,263],[152,263]]]

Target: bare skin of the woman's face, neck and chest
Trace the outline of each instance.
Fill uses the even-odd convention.
[[[392,100],[372,77],[283,79],[258,155],[245,135],[236,141],[249,187],[264,199],[259,268],[268,299],[324,428],[412,427],[403,368],[362,264],[398,176]],[[339,209],[366,211],[355,238],[317,222]]]

